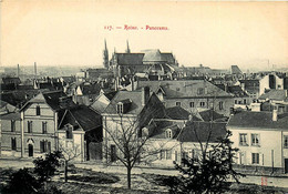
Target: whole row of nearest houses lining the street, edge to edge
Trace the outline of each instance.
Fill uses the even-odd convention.
[[[1,155],[34,157],[70,149],[79,161],[114,162],[117,146],[106,132],[137,122],[135,134],[151,133],[147,145],[158,146],[152,164],[172,166],[173,161],[195,156],[209,132],[213,144],[230,130],[240,150],[239,165],[287,172],[288,115],[275,109],[275,101],[274,111],[235,113],[230,108],[236,96],[205,80],[142,81],[134,88],[109,93],[99,89],[89,105],[63,91],[40,91],[18,109],[1,101]]]

